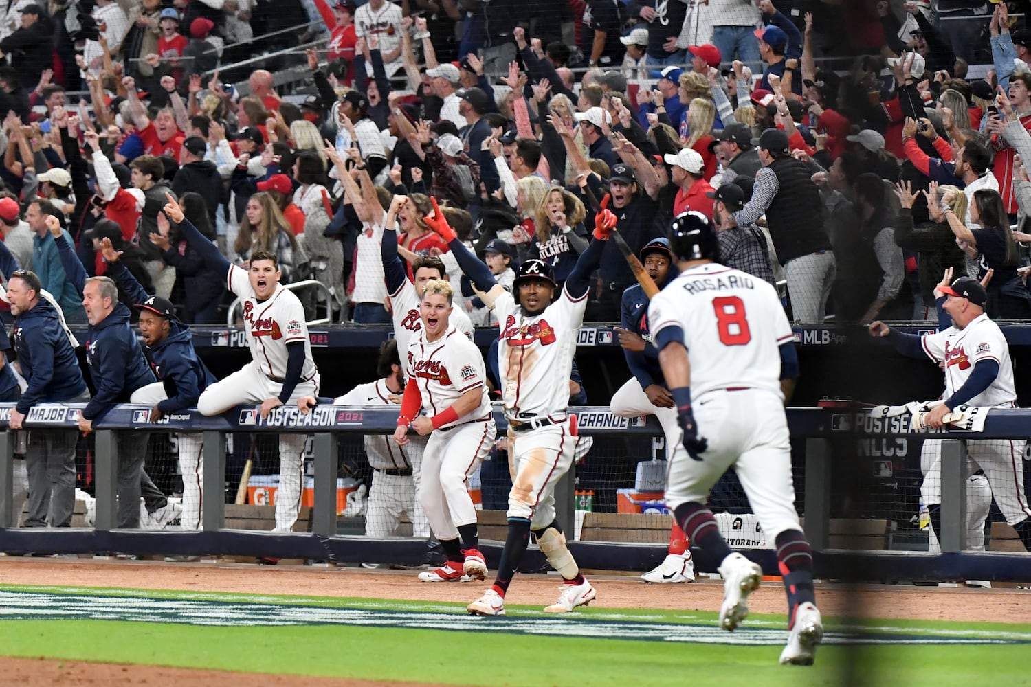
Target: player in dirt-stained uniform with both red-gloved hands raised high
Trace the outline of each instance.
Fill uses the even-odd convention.
[[[504,615],[505,592],[526,553],[531,531],[547,562],[565,580],[558,602],[545,607],[545,612],[567,613],[590,604],[597,594],[580,573],[555,518],[555,485],[572,465],[576,446],[576,426],[567,412],[568,380],[576,334],[587,308],[590,275],[601,262],[605,241],[617,221],[616,215],[604,209],[607,200],[595,219],[595,240],[580,253],[554,302],[556,283],[545,263],[523,263],[513,295],[498,285],[487,266],[458,240],[435,200],[434,214],[427,217],[501,322],[499,377],[508,420],[508,465],[512,475],[508,535],[497,579],[467,607],[472,615]]]

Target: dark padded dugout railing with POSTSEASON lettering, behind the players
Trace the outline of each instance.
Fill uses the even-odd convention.
[[[12,404],[0,405],[2,430],[6,430],[11,408]],[[36,406],[25,426],[29,431],[71,428],[76,426],[81,408],[81,404]],[[356,530],[346,526],[346,518],[338,517],[337,480],[341,471],[351,471],[360,478],[361,438],[391,434],[396,411],[383,407],[320,406],[311,414],[301,415],[296,408],[284,407],[262,419],[254,407],[241,407],[219,417],[186,411],[158,424],[145,422],[147,411],[143,406],[118,406],[95,424],[97,432],[90,448],[96,499],[93,528],[12,526],[16,522],[12,508],[16,437],[13,432],[0,434],[0,551],[248,555],[344,563],[424,561],[426,543],[420,538],[370,539],[340,534]],[[580,434],[591,440],[591,445],[578,456],[581,460],[557,493],[560,522],[567,531],[577,535],[570,546],[586,569],[648,570],[665,555],[669,519],[662,513],[661,494],[647,497],[657,494],[636,489],[636,482],[643,475],[650,488],[654,487],[656,474],[663,473],[665,446],[659,426],[654,418],[614,417],[607,408],[577,408],[574,412],[580,419]],[[818,552],[818,577],[1031,580],[1031,556],[1026,553],[998,552],[991,542],[987,552],[964,552],[965,443],[970,439],[1016,439],[1023,446],[1031,411],[992,410],[978,433],[910,432],[908,422],[901,418],[879,417],[864,409],[793,408],[789,409],[788,417],[796,506]],[[496,412],[495,419],[502,436],[504,418]],[[114,528],[118,466],[114,436],[118,432],[143,431],[156,435],[181,431],[204,433],[204,492],[208,496],[203,501],[202,531]],[[227,500],[213,497],[235,493],[234,483],[229,483],[227,490],[227,439],[231,437],[234,444],[240,438],[261,442],[278,433],[312,435],[313,506],[308,531],[272,534],[227,528]],[[940,554],[926,552],[926,535],[921,537],[917,517],[921,475],[917,447],[927,439],[941,440]],[[341,446],[345,447],[343,451]],[[169,456],[169,459],[174,458]],[[274,459],[274,455],[262,458],[266,462]],[[497,494],[506,489],[506,475],[497,474],[502,472],[497,470],[501,465],[499,461],[492,466],[493,472],[480,474],[485,538],[501,531],[504,525],[503,513],[487,508],[497,506]],[[1016,465],[1023,473],[1023,454]],[[593,492],[593,499],[587,501],[586,492]],[[757,523],[750,518],[736,481],[731,477],[722,482],[714,495],[713,505],[722,511],[720,518],[728,538],[767,573],[775,575],[773,551],[761,548],[768,544],[755,537]],[[638,508],[628,508],[626,502],[632,502],[640,512]],[[755,529],[750,531],[750,528]],[[750,548],[756,546],[760,548]],[[483,548],[489,564],[496,565],[501,542],[485,542]],[[528,565],[533,568],[541,561],[542,558],[531,559]],[[712,571],[716,561],[706,560],[703,552],[696,551],[696,568]]]

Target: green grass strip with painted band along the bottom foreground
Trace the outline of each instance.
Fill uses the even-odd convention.
[[[1031,624],[825,619],[817,665],[777,665],[784,616],[0,586],[0,654],[456,685],[1031,685]],[[148,621],[141,621],[146,618]],[[636,638],[636,639],[630,639]],[[737,644],[727,644],[736,642]],[[916,643],[914,643],[916,642]],[[758,645],[758,646],[756,646]],[[0,662],[2,664],[2,662]]]

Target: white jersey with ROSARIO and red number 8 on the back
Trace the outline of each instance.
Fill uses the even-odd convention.
[[[684,331],[691,396],[727,388],[780,390],[779,346],[794,335],[768,282],[724,265],[681,272],[648,304],[652,335]]]

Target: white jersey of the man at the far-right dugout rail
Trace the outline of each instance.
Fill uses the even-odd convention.
[[[999,364],[999,375],[987,389],[967,402],[970,406],[1010,407],[1017,401],[1013,385],[1013,365],[1009,360],[1009,344],[999,325],[982,314],[962,330],[947,330],[928,334],[921,339],[924,352],[937,364],[945,364],[945,394],[949,399],[966,383],[973,368],[980,360]]]

